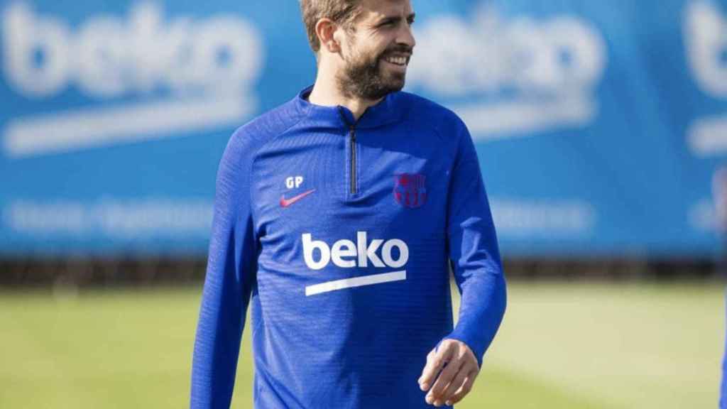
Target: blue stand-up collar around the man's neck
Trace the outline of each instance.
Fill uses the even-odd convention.
[[[400,92],[392,92],[384,97],[374,106],[369,106],[364,114],[353,120],[353,113],[345,106],[321,106],[308,102],[308,96],[313,91],[313,85],[302,90],[295,98],[295,105],[298,111],[313,119],[318,124],[326,124],[332,127],[348,128],[356,124],[356,128],[375,128],[385,124],[397,122],[403,116],[400,99]]]

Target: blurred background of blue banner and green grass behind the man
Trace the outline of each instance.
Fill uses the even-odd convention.
[[[509,282],[458,408],[715,408],[727,1],[414,8]],[[2,0],[0,52],[0,408],[187,406],[225,143],[315,78],[297,2]]]

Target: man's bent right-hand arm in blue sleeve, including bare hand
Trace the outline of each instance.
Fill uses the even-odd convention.
[[[475,146],[459,122],[447,204],[447,245],[461,294],[459,321],[427,356],[419,384],[427,403],[451,405],[470,392],[505,314],[505,278]]]

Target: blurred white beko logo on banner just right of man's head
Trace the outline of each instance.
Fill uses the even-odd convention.
[[[587,126],[605,68],[603,38],[586,20],[503,20],[485,7],[471,23],[438,17],[418,29],[408,81],[450,98],[475,138],[491,139]]]

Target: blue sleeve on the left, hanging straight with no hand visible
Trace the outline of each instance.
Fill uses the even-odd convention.
[[[230,408],[257,268],[249,198],[252,166],[236,132],[217,171],[212,236],[194,344],[190,408]]]

